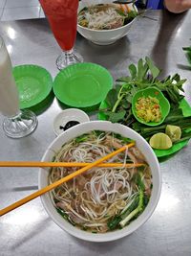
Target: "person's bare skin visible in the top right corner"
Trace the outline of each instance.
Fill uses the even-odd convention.
[[[191,0],[164,0],[164,6],[169,12],[185,12],[191,9]]]

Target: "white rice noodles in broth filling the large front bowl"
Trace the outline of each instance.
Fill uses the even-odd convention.
[[[79,142],[78,142],[79,139]],[[90,132],[64,145],[55,155],[54,161],[93,162],[126,142],[118,139],[114,133]],[[138,158],[140,157],[140,158]],[[127,162],[145,162],[138,148],[133,147],[110,159],[123,163],[120,168],[93,168],[84,175],[63,183],[51,192],[55,207],[63,210],[69,221],[89,231],[108,231],[107,221],[123,213],[138,194],[138,185],[133,177],[137,168],[126,168]],[[63,176],[75,172],[78,168],[53,167],[49,175],[52,184]],[[145,166],[142,181],[147,193],[151,184],[149,167]]]

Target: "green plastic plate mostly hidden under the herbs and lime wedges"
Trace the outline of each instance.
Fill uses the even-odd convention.
[[[107,108],[106,102],[102,102],[99,109]],[[183,99],[180,102],[180,108],[182,109],[183,116],[191,116],[191,106],[186,102],[185,99]],[[98,114],[99,120],[107,120],[105,114],[103,112],[99,112]],[[188,130],[190,131],[190,130]],[[170,156],[171,154],[174,154],[177,151],[180,151],[183,147],[185,147],[188,144],[189,140],[181,141],[180,143],[174,144],[173,147],[169,150],[154,150],[156,155],[158,157],[164,157],[164,156]]]

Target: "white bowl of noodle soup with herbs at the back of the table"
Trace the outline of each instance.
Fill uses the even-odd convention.
[[[133,4],[118,5],[111,1],[81,1],[77,14],[77,31],[88,40],[108,45],[127,35],[138,16]]]

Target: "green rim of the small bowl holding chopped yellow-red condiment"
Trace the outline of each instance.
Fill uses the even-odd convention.
[[[155,90],[155,91],[158,91],[159,92],[159,95],[161,96],[162,98],[162,102],[165,102],[166,105],[168,105],[168,109],[166,111],[166,113],[163,115],[163,117],[161,117],[161,120],[159,122],[150,122],[150,123],[146,123],[145,121],[141,120],[140,118],[138,118],[138,115],[136,113],[136,103],[135,103],[135,98],[136,96],[138,96],[138,94],[141,94],[142,92],[144,91],[148,91],[148,90]],[[162,103],[160,102],[159,105],[161,105]],[[163,93],[159,90],[159,88],[157,88],[156,86],[152,86],[152,87],[147,87],[147,88],[144,88],[142,90],[138,90],[137,93],[134,95],[133,99],[132,99],[132,112],[133,112],[133,115],[135,116],[135,118],[138,120],[139,123],[145,125],[145,126],[148,126],[148,127],[157,127],[159,125],[161,125],[165,118],[167,117],[167,115],[169,114],[170,112],[170,103],[168,101],[168,99],[163,95]]]

